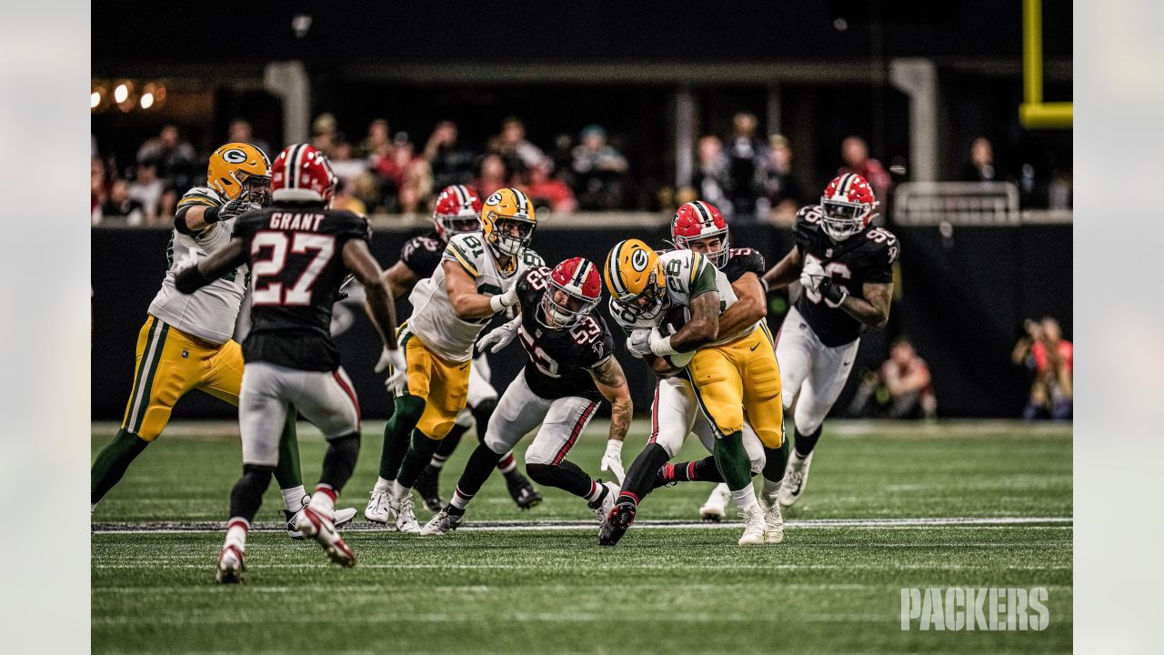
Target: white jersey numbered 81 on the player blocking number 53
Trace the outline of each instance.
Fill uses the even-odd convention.
[[[409,295],[412,317],[406,330],[420,338],[433,353],[448,361],[468,361],[473,344],[490,318],[466,321],[453,311],[445,284],[445,262],[457,263],[477,286],[477,291],[499,295],[508,291],[530,267],[545,266],[541,255],[530,248],[521,251],[512,270],[501,270],[480,232],[455,234],[441,255],[441,266],[431,277],[417,282]]]

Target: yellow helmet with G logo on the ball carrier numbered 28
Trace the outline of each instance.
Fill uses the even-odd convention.
[[[606,290],[617,312],[653,321],[667,309],[667,279],[659,254],[638,239],[619,241],[606,255]],[[613,311],[613,308],[612,308]]]

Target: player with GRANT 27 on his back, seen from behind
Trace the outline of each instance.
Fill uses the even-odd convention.
[[[239,408],[243,473],[230,491],[226,544],[215,569],[220,583],[242,582],[247,530],[279,460],[281,427],[297,410],[324,432],[327,453],[319,485],[296,528],[314,537],[336,564],[356,562],[332,520],[335,498],[360,455],[360,403],[329,331],[332,305],[348,273],[363,284],[368,314],[384,340],[385,358],[397,371],[388,380],[389,389],[405,383],[392,293],[368,249],[368,219],[328,209],[335,175],[327,157],[310,145],[289,146],[271,172],[274,204],[243,214],[228,244],[175,276],[183,294],[193,294],[243,263],[250,265],[255,277]]]

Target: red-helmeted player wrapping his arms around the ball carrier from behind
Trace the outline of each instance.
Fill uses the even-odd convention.
[[[764,275],[764,255],[753,248],[732,248],[728,223],[715,205],[694,200],[679,207],[670,225],[672,242],[682,249],[690,249],[708,258],[731,283],[737,301],[719,316],[719,329],[734,332],[739,326],[754,325],[767,316],[767,302],[760,276]],[[714,451],[715,437],[705,418],[696,421],[698,408],[690,382],[682,375],[660,379],[656,382],[655,401],[651,409],[651,444],[661,445],[674,457],[691,431],[696,434],[709,452]],[[767,505],[765,514],[765,542],[780,543],[783,540],[783,519],[776,506],[781,480],[785,474],[790,444],[781,442],[774,458],[768,463],[765,449],[752,429],[744,421],[744,446],[752,462],[752,473],[761,476],[764,487],[760,500]],[[711,499],[700,508],[703,520],[719,521],[731,499],[726,484],[715,465],[714,457],[698,462],[682,462],[663,465],[655,476],[655,487],[681,481],[719,483]]]

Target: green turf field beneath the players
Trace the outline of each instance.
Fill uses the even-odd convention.
[[[643,425],[638,425],[643,428]],[[369,424],[341,505],[376,479]],[[597,473],[604,424],[570,455]],[[115,427],[94,425],[93,452]],[[301,430],[305,477],[324,443]],[[93,516],[92,642],[101,653],[1045,653],[1070,652],[1070,427],[830,422],[785,543],[740,548],[740,528],[697,519],[710,485],[656,491],[613,549],[594,513],[542,490],[519,512],[495,476],[467,516],[489,529],[443,538],[348,530],[341,570],[314,542],[254,530],[248,583],[214,584],[220,531],[241,470],[232,425],[176,423]],[[450,490],[471,445],[442,478]],[[643,443],[629,439],[629,466]],[[633,445],[631,445],[633,444]],[[519,452],[521,450],[519,449]],[[683,453],[702,457],[691,439]],[[310,485],[308,485],[310,486]],[[281,514],[268,493],[258,523]],[[430,514],[418,502],[418,517]],[[866,521],[860,521],[866,520]],[[974,521],[966,521],[974,520]],[[518,529],[510,521],[551,522]],[[652,521],[660,524],[650,526]],[[575,523],[579,522],[579,523]],[[672,524],[662,524],[670,522]],[[169,523],[170,529],[159,529]],[[114,531],[125,528],[132,531]],[[1046,587],[1042,632],[901,629],[902,587]]]

